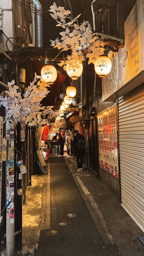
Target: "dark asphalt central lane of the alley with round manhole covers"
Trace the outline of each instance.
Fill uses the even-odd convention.
[[[73,176],[75,163],[68,163],[70,159],[59,155],[50,156],[50,229],[41,230],[35,255],[120,255],[97,217],[96,221],[92,218],[93,209],[90,213],[85,194],[82,195],[83,191],[80,191]],[[84,173],[82,176],[88,178],[87,171]]]

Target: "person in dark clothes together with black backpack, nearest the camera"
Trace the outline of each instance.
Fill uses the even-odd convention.
[[[83,171],[83,156],[85,155],[85,140],[78,130],[74,131],[74,152],[77,158],[77,171]]]

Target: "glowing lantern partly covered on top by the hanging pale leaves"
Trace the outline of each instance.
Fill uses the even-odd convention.
[[[70,67],[69,64],[67,64],[67,74],[71,77],[71,79],[73,80],[77,80],[77,78],[82,74],[83,72],[83,64],[79,63],[77,61],[76,65],[78,65],[78,67]]]

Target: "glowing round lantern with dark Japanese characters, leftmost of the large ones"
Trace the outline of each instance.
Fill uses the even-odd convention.
[[[57,70],[52,65],[43,66],[41,69],[41,76],[45,83],[52,85],[57,79]]]

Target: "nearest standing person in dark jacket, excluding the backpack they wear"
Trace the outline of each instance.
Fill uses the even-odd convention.
[[[77,146],[78,146],[78,140],[83,139],[84,140],[84,136],[81,135],[78,130],[74,131],[74,153],[75,156],[77,158],[77,171],[83,171],[83,156],[85,155],[85,150],[84,151],[79,151],[77,150]]]

